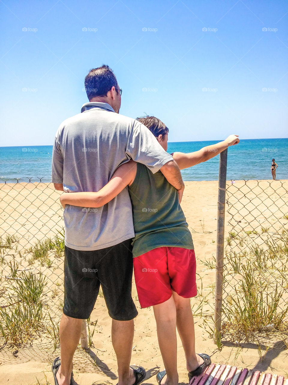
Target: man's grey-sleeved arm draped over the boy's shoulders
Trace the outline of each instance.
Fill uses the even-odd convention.
[[[153,173],[161,170],[167,181],[180,191],[180,195],[182,194],[184,183],[179,167],[144,124],[135,121],[128,139],[126,154],[135,162],[145,164]]]

